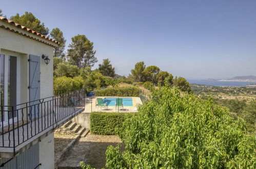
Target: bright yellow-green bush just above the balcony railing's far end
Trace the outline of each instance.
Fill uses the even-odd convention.
[[[63,91],[75,91],[83,88],[84,80],[81,76],[71,77],[56,77],[53,80],[53,89],[54,90],[63,90]]]

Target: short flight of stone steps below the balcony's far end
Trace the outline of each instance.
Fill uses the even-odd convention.
[[[80,137],[85,137],[88,134],[89,130],[80,124],[76,124],[71,120],[65,123],[61,128],[57,129],[55,133],[58,134],[76,134],[80,135]]]

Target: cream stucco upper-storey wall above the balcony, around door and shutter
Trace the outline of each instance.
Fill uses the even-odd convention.
[[[0,23],[1,24],[1,23]],[[18,28],[16,28],[18,29]],[[23,30],[22,30],[23,31]],[[28,34],[29,32],[27,32]],[[33,34],[32,34],[33,35]],[[36,36],[36,35],[35,35]],[[21,84],[21,91],[27,93],[28,95],[28,57],[29,54],[42,56],[46,54],[49,56],[50,63],[48,65],[45,64],[44,60],[41,58],[40,60],[40,93],[41,98],[52,96],[53,94],[53,47],[43,44],[39,41],[33,40],[23,35],[19,35],[17,33],[11,32],[9,30],[0,28],[0,53],[5,54],[6,52],[9,54],[13,53],[13,55],[19,55],[22,57],[21,62],[21,79],[23,79]],[[27,77],[26,77],[27,76]],[[24,78],[27,81],[24,80]],[[22,97],[22,96],[21,96]],[[25,98],[25,97],[24,97]],[[26,102],[28,100],[21,100],[21,102]],[[26,97],[28,99],[28,96]]]

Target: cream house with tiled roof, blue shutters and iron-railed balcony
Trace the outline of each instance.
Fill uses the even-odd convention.
[[[53,96],[57,46],[0,17],[1,168],[54,168],[53,131],[84,110],[84,91]]]

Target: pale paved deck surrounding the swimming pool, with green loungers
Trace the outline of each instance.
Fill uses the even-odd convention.
[[[115,106],[108,106],[107,109],[104,109],[100,106],[96,105],[96,98],[132,98],[132,106],[124,106],[122,107],[115,107]],[[119,112],[119,113],[132,113],[137,112],[137,105],[142,104],[140,97],[113,97],[113,96],[93,96],[86,98],[85,104],[85,112]]]

